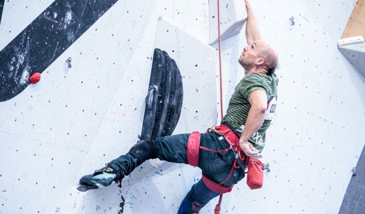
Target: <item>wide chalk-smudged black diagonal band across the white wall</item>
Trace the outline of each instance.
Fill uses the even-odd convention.
[[[0,52],[0,102],[17,96],[118,0],[55,0]]]

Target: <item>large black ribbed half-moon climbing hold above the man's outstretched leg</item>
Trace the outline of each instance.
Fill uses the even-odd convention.
[[[183,106],[183,81],[175,60],[155,49],[140,140],[171,135]]]

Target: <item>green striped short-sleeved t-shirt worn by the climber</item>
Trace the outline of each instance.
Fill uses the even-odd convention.
[[[223,117],[222,123],[232,125],[238,133],[242,133],[246,124],[247,115],[250,110],[249,98],[255,90],[263,90],[266,92],[268,100],[268,108],[265,114],[265,120],[262,126],[249,139],[249,142],[261,152],[265,146],[266,130],[269,128],[273,120],[276,101],[277,101],[277,85],[278,79],[275,74],[266,75],[263,73],[249,73],[238,83],[235,92],[229,101],[226,115]]]

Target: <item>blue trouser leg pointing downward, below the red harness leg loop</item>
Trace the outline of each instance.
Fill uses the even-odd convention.
[[[178,214],[194,214],[199,213],[200,209],[205,206],[211,199],[219,196],[218,193],[215,193],[208,189],[205,186],[202,179],[195,183],[191,190],[187,193],[183,202],[179,207]]]

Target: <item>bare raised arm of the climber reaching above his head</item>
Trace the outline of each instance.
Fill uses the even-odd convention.
[[[247,44],[250,45],[254,41],[261,39],[260,31],[258,30],[258,24],[252,11],[251,5],[248,0],[245,0],[247,10],[247,21],[246,21],[246,39]]]

